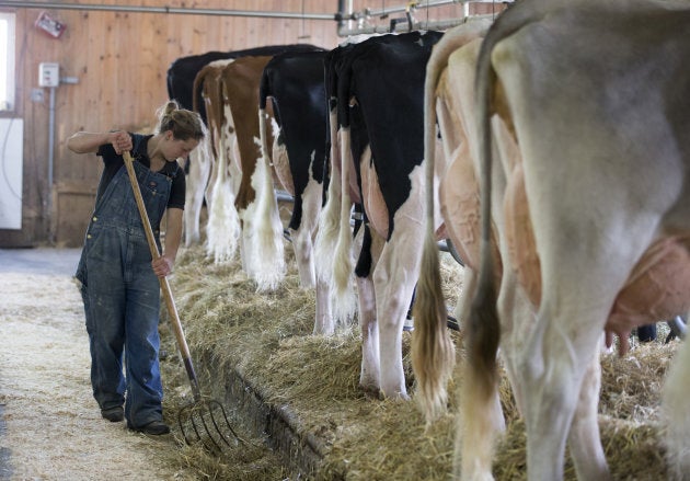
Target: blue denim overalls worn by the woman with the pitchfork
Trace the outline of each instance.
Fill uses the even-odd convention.
[[[172,181],[139,162],[134,167],[160,252],[159,226]],[[82,283],[93,397],[104,410],[124,402],[130,427],[162,419],[160,284],[151,260],[123,165],[96,203],[77,278]]]

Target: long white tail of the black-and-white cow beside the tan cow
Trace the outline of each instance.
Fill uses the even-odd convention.
[[[352,229],[349,227],[349,198],[348,180],[352,169],[349,127],[341,128],[341,213],[337,242],[333,260],[333,314],[335,319],[346,321],[352,319],[357,306],[353,288],[353,255],[352,255]]]

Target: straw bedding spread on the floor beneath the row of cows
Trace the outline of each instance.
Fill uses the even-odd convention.
[[[286,252],[291,253],[291,249]],[[448,254],[442,257],[446,294],[452,306],[462,270]],[[181,252],[171,284],[203,389],[212,387],[214,396],[222,396],[225,380],[233,370],[239,373],[265,402],[289,413],[300,436],[319,440],[323,461],[318,479],[447,480],[452,466],[457,397],[451,397],[450,413],[428,431],[414,402],[367,397],[357,388],[357,328],[341,325],[336,335],[327,339],[312,335],[314,295],[299,287],[292,260],[288,265],[288,276],[277,291],[257,294],[239,263],[216,265],[202,248]],[[460,335],[452,335],[460,342]],[[163,337],[166,348],[174,352],[164,328]],[[409,346],[410,334],[405,333],[403,355],[412,390]],[[665,473],[656,421],[663,375],[674,352],[672,344],[654,343],[634,348],[622,359],[616,355],[602,359],[600,426],[616,479],[652,480]],[[461,350],[458,356],[460,359]],[[188,383],[177,356],[170,356],[163,369],[166,415],[172,416],[175,405],[188,400]],[[499,480],[524,479],[525,426],[505,380],[502,401],[508,431],[494,474]],[[242,423],[241,413],[234,415]],[[294,474],[249,431],[242,431],[242,436],[251,444],[229,457],[211,459],[192,448],[186,448],[185,456],[207,479],[285,479]],[[570,463],[566,479],[575,479]]]

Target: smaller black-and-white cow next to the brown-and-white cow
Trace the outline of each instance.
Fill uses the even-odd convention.
[[[260,130],[265,161],[272,158],[281,185],[292,195],[288,229],[300,283],[317,290],[315,334],[332,334],[329,287],[315,276],[313,239],[324,203],[327,161],[327,107],[324,87],[326,51],[276,55],[264,68],[260,85]],[[273,105],[276,124],[269,152],[266,113]]]

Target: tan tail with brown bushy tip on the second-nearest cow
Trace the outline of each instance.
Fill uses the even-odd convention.
[[[456,350],[448,333],[446,299],[441,290],[438,245],[434,218],[434,171],[436,150],[435,93],[450,48],[434,47],[426,67],[424,85],[424,159],[426,161],[426,232],[419,266],[419,279],[413,308],[412,368],[416,381],[415,399],[430,424],[445,410],[446,385],[452,374]]]

